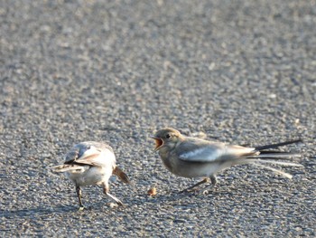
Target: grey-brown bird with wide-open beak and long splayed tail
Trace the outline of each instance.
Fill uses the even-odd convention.
[[[216,177],[218,172],[237,165],[252,164],[290,179],[293,177],[292,175],[265,164],[302,167],[300,164],[280,161],[282,158],[301,157],[300,154],[267,150],[299,143],[302,142],[302,139],[248,148],[186,137],[179,130],[172,128],[159,129],[151,138],[155,140],[154,151],[158,151],[164,167],[172,174],[188,178],[204,177],[199,183],[182,190],[181,193],[189,192],[196,186],[207,182],[215,186],[218,182]]]

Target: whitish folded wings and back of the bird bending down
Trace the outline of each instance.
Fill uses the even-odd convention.
[[[115,162],[115,155],[107,144],[83,142],[70,150],[66,155],[65,164],[102,167],[107,162]]]

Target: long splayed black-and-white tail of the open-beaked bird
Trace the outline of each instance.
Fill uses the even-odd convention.
[[[277,150],[265,150],[265,149],[279,148],[279,147],[283,147],[283,146],[291,145],[295,143],[300,143],[300,142],[302,142],[302,139],[295,139],[295,140],[285,141],[282,143],[256,147],[255,148],[256,151],[259,152],[260,154],[246,157],[246,162],[249,164],[253,164],[256,167],[262,167],[262,168],[271,170],[276,174],[279,174],[291,179],[293,177],[292,175],[285,173],[282,170],[276,169],[274,167],[268,167],[265,164],[272,164],[272,165],[278,165],[278,166],[284,166],[284,167],[303,167],[302,165],[297,164],[297,163],[280,161],[280,159],[291,159],[295,157],[301,157],[301,154],[293,153],[293,152],[283,152],[283,151],[277,151]]]

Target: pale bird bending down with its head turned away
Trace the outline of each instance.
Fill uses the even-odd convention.
[[[116,166],[113,148],[105,142],[80,142],[66,154],[63,165],[51,167],[51,170],[55,173],[66,173],[75,184],[79,210],[84,209],[81,186],[101,185],[105,195],[116,201],[117,205],[123,205],[116,196],[109,194],[108,179],[116,175],[125,184],[130,184],[128,176]]]

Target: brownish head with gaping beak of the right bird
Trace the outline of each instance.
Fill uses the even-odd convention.
[[[166,128],[158,130],[152,137],[156,142],[156,147],[154,150],[159,150],[163,147],[173,148],[183,136],[176,129]]]

